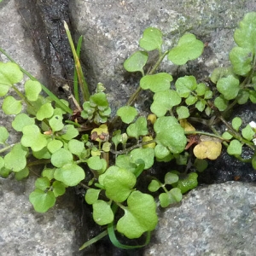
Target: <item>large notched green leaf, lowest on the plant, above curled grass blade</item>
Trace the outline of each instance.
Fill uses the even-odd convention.
[[[133,239],[155,229],[158,218],[153,196],[133,191],[127,199],[127,207],[122,208],[125,215],[119,218],[116,225],[119,233]]]

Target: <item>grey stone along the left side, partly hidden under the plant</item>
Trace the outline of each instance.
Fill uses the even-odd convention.
[[[15,61],[41,81],[44,81],[42,63],[25,34],[22,17],[17,12],[15,1],[0,3],[0,47]],[[1,54],[0,61],[7,61]],[[2,102],[0,102],[2,105]],[[11,130],[12,118],[0,111],[0,125],[11,132],[9,143],[15,143],[17,135]],[[13,177],[0,178],[0,247],[2,256],[81,255],[79,246],[82,212],[77,206],[72,190],[57,201],[49,212],[35,212],[28,201],[34,189],[35,177],[18,182]]]

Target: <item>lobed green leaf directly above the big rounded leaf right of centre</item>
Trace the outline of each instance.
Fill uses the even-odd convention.
[[[158,117],[164,116],[168,110],[177,106],[181,102],[176,90],[162,90],[154,94],[154,102],[151,104],[150,110]]]

